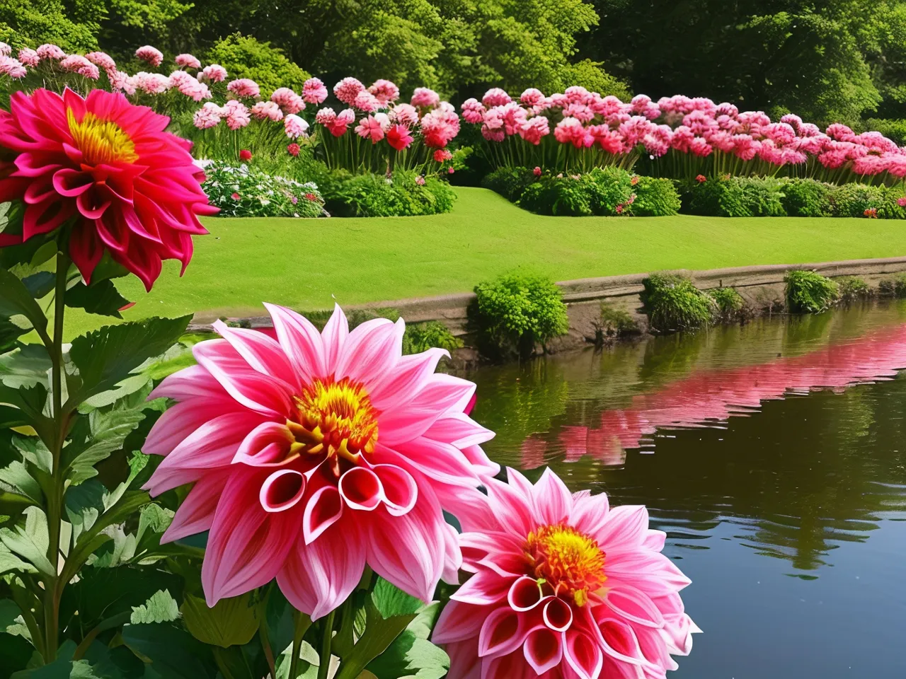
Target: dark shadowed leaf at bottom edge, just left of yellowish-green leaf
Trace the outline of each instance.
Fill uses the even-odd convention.
[[[213,679],[217,674],[210,648],[177,627],[127,625],[122,640],[166,679]]]

